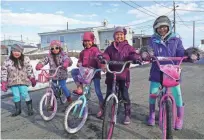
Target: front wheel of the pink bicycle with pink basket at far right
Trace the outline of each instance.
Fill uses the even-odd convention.
[[[172,105],[170,100],[162,104],[162,137],[163,139],[172,139]]]

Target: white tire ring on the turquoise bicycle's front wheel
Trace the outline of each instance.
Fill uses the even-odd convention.
[[[87,117],[88,117],[88,107],[85,106],[85,108],[84,108],[84,111],[85,111],[85,112],[84,112],[84,114],[83,114],[82,121],[81,121],[81,123],[80,123],[77,127],[71,128],[71,127],[69,126],[69,124],[67,123],[68,117],[69,117],[69,114],[70,114],[71,110],[72,110],[76,105],[81,105],[81,104],[83,104],[83,101],[82,101],[82,100],[76,100],[75,102],[73,102],[72,104],[70,104],[70,105],[67,107],[66,111],[65,111],[64,128],[65,128],[65,130],[66,130],[68,133],[73,134],[73,133],[78,132],[78,131],[84,126],[84,124],[85,124],[85,122],[86,122],[86,120],[87,120]]]

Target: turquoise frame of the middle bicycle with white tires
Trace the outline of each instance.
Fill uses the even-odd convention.
[[[94,75],[95,75],[97,72],[99,72],[99,71],[101,71],[101,69],[96,69],[96,70],[94,71],[94,73],[93,73],[93,77],[94,77]],[[83,93],[84,93],[84,94],[81,95],[81,96],[78,98],[78,100],[82,100],[82,102],[83,102],[81,111],[80,111],[80,113],[79,113],[79,117],[82,117],[82,113],[83,113],[84,108],[85,108],[85,106],[86,106],[86,104],[87,104],[86,95],[87,95],[87,94],[90,94],[90,93],[89,93],[89,90],[90,90],[90,87],[91,87],[91,83],[92,83],[92,80],[91,80],[90,84],[86,84],[86,85],[85,85],[85,87],[83,88]],[[76,113],[77,108],[78,108],[78,106],[75,106],[74,111],[72,112],[73,115]]]

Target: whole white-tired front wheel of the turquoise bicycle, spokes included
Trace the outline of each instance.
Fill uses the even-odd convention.
[[[64,128],[68,133],[76,133],[84,126],[88,117],[88,107],[82,108],[82,105],[82,100],[76,100],[67,107],[64,117]],[[81,110],[82,114],[80,116]]]

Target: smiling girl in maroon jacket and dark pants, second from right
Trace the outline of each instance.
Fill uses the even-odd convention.
[[[110,46],[107,47],[105,52],[103,53],[103,57],[108,61],[138,61],[140,60],[140,55],[136,53],[136,50],[128,44],[128,41],[125,39],[125,35],[127,31],[125,28],[117,27],[115,28],[113,38],[114,42],[111,43]],[[130,83],[130,71],[129,64],[126,66],[125,70],[117,75],[116,80],[119,83],[119,88],[122,93],[122,98],[127,103],[124,103],[125,107],[125,119],[124,124],[130,123],[130,98],[128,93],[129,83]],[[110,70],[119,71],[121,70],[121,65],[112,65],[110,66]],[[113,75],[109,72],[106,73],[106,84],[107,84],[107,92],[106,98],[111,94],[112,91],[112,82]],[[106,99],[105,98],[105,99]]]

